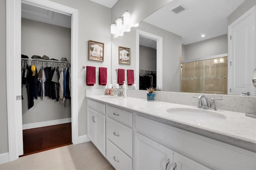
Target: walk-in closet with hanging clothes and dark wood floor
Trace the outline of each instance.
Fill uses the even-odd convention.
[[[71,144],[71,17],[22,3],[21,53],[24,155]]]

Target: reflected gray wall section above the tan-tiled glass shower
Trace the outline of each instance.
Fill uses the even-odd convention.
[[[182,61],[228,53],[228,35],[182,45]]]

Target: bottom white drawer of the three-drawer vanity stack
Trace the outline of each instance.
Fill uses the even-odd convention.
[[[106,140],[106,158],[117,170],[132,170],[132,158],[110,140]]]

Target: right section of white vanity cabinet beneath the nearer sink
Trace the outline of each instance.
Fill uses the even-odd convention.
[[[255,152],[194,134],[186,130],[171,127],[138,115],[134,115],[134,131],[136,134],[134,138],[135,154],[133,158],[135,169],[140,169],[141,155],[150,155],[151,153],[147,150],[152,146],[155,146],[154,148],[151,148],[151,150],[156,151],[158,150],[158,147],[161,146],[160,144],[166,146],[166,148],[174,150],[171,169],[212,168],[224,170],[252,170],[256,168]],[[156,143],[152,146],[146,146],[145,141],[150,140],[142,138],[141,135],[137,135],[138,133],[156,141],[159,146]],[[144,142],[143,145],[141,144],[142,142]],[[140,146],[144,148],[141,149]],[[145,149],[146,147],[147,149]],[[164,164],[157,159],[155,160],[155,164]],[[153,162],[154,158],[150,161]],[[164,161],[166,161],[166,158]]]

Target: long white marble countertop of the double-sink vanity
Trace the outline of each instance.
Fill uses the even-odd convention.
[[[93,95],[86,98],[135,111],[149,119],[256,152],[256,119],[245,116],[245,113],[207,110],[212,114],[224,115],[226,119],[205,120],[198,116],[187,117],[166,111],[172,108],[197,109],[196,106],[107,95]],[[204,110],[198,109],[198,112],[202,111]]]

